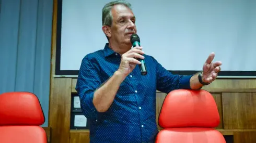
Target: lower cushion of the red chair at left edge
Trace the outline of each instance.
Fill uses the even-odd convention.
[[[0,142],[4,143],[45,143],[47,136],[40,126],[0,126]]]

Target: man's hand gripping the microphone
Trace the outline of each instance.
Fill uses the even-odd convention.
[[[127,76],[129,73],[133,71],[136,64],[141,64],[141,62],[135,58],[144,59],[144,56],[142,56],[143,54],[144,51],[142,51],[142,47],[134,47],[126,53],[124,53],[122,55],[118,71]]]

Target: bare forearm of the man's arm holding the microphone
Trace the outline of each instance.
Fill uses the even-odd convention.
[[[109,109],[124,79],[125,76],[116,71],[106,83],[96,90],[92,102],[98,112],[106,112]]]

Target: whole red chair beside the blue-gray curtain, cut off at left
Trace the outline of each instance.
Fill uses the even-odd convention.
[[[0,142],[46,143],[44,114],[36,95],[10,92],[0,95]]]

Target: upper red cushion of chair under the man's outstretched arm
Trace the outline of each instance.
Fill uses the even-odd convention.
[[[206,90],[178,89],[162,104],[158,124],[163,128],[217,127],[219,114],[213,96]]]

